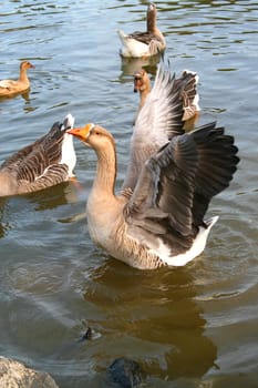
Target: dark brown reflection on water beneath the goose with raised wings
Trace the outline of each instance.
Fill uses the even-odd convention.
[[[206,319],[187,269],[143,274],[110,263],[95,270],[84,297],[107,317],[90,323],[102,326],[109,345],[95,355],[99,361],[142,355],[148,375],[169,380],[200,378],[214,367],[217,348],[205,335]],[[122,354],[118,337],[124,344],[130,338]]]

